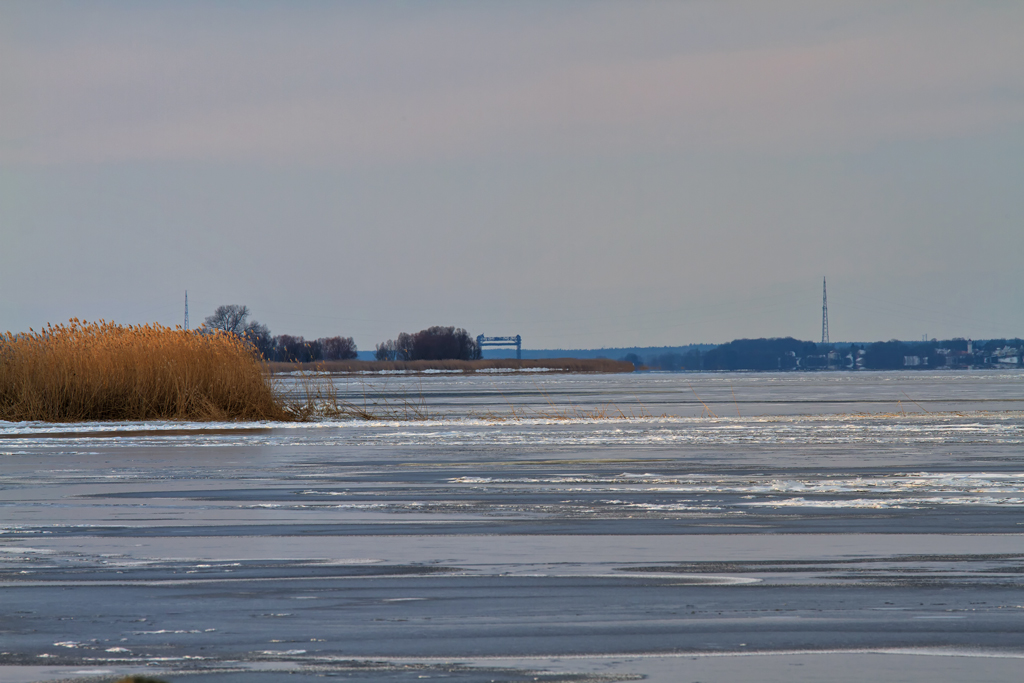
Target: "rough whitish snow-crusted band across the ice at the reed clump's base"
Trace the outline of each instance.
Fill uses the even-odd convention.
[[[914,416],[787,416],[773,418],[516,419],[412,422],[134,423],[68,425],[6,423],[0,445],[388,445],[388,446],[686,446],[1024,443],[1024,414]],[[67,452],[67,451],[66,451]]]

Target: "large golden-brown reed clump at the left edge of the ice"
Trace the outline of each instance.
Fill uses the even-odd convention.
[[[72,318],[0,337],[0,420],[287,419],[234,335]]]

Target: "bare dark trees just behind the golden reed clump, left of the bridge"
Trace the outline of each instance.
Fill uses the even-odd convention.
[[[245,338],[265,360],[313,362],[348,360],[356,356],[355,340],[351,337],[321,337],[311,341],[292,335],[274,337],[265,325],[250,321],[249,312],[248,306],[218,306],[203,325],[207,330],[223,330]]]

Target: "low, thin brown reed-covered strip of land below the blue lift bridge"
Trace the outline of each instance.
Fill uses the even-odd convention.
[[[489,358],[483,360],[318,360],[266,364],[273,375],[326,372],[332,375],[429,375],[474,373],[632,373],[627,360],[609,358]]]

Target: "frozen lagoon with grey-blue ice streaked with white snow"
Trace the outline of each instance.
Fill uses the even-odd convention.
[[[337,382],[429,419],[0,423],[0,680],[1024,670],[1024,372]]]

